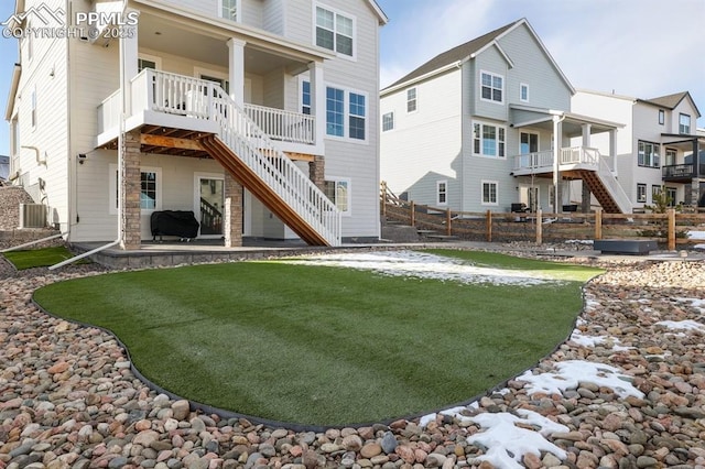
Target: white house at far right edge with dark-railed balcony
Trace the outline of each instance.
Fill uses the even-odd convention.
[[[638,99],[578,90],[572,106],[625,123],[617,134],[617,179],[634,207],[652,205],[663,189],[671,205],[705,207],[705,135],[695,128],[701,113],[690,92]]]

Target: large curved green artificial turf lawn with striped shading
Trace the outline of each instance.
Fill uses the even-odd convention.
[[[570,335],[581,287],[600,273],[443,253],[563,281],[471,285],[270,261],[84,277],[34,299],[112,330],[148,379],[183,397],[280,422],[379,422],[467,401],[534,364]]]

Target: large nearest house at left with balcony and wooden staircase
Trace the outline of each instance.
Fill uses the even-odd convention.
[[[74,242],[139,248],[161,210],[226,246],[376,240],[386,22],[373,0],[17,0],[15,183]]]

